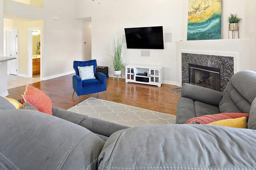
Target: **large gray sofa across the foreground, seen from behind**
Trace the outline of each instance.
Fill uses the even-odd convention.
[[[53,116],[14,109],[0,98],[0,170],[255,170],[256,100],[245,94],[250,129],[127,128],[56,107]]]

